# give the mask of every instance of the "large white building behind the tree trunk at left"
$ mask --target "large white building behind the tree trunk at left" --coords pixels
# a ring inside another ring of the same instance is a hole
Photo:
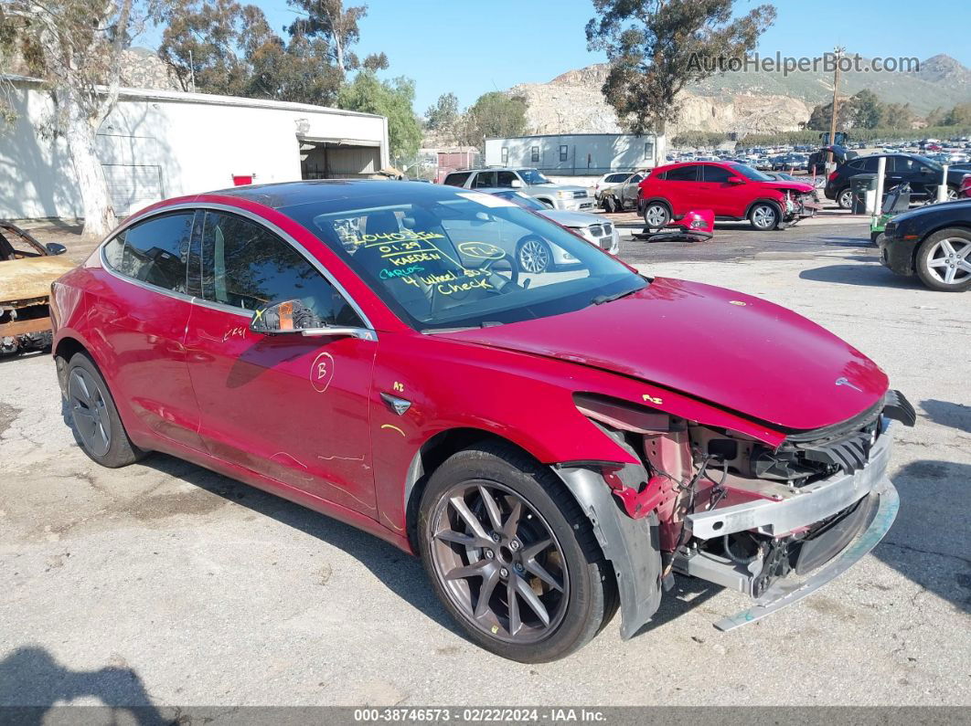
[[[0,122],[0,218],[80,217],[71,157],[50,133],[50,94],[34,80],[13,82],[17,119]],[[345,178],[388,166],[384,116],[138,88],[121,89],[97,148],[122,216],[248,178]]]

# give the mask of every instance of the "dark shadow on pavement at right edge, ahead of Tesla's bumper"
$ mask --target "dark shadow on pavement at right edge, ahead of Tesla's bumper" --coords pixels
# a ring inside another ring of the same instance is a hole
[[[921,459],[891,479],[900,512],[874,555],[922,590],[971,613],[971,529],[963,506],[954,509],[954,502],[967,498],[971,465]]]

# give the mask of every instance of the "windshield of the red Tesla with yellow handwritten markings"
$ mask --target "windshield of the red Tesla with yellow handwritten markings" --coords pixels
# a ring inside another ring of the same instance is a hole
[[[396,185],[393,192],[281,211],[317,235],[419,331],[558,315],[648,284],[608,254],[508,200],[421,187],[416,192]]]

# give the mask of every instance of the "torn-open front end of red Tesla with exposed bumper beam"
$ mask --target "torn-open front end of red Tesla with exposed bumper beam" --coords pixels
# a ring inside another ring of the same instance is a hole
[[[673,573],[755,599],[716,623],[724,630],[787,607],[844,572],[896,516],[886,473],[889,423],[916,420],[906,398],[889,391],[849,421],[770,447],[607,396],[574,399],[640,461],[557,467],[614,565],[625,638],[653,616]]]

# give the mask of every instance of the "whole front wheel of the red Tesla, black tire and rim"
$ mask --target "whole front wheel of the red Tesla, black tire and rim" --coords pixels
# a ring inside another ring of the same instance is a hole
[[[470,640],[523,663],[586,645],[616,608],[589,521],[549,468],[482,443],[435,470],[421,497],[419,550]]]

